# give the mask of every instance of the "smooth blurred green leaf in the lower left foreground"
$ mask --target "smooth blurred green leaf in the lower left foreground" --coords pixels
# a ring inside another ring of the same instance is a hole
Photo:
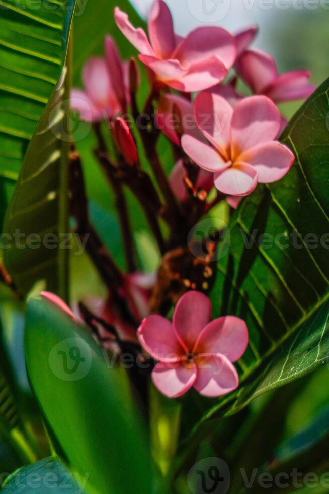
[[[149,446],[127,374],[54,304],[31,300],[28,375],[68,464],[97,492],[148,494]]]

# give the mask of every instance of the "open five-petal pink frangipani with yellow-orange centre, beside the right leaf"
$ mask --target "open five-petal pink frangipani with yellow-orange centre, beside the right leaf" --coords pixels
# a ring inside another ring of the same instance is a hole
[[[215,187],[224,194],[246,196],[258,182],[282,178],[294,162],[290,149],[275,140],[281,115],[266,96],[244,98],[233,109],[221,96],[205,91],[195,99],[194,115],[211,145],[183,135],[183,149],[214,173]]]

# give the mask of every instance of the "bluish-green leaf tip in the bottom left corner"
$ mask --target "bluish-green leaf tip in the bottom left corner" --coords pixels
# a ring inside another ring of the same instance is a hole
[[[60,494],[60,492],[75,492],[87,494],[84,488],[85,478],[77,476],[81,485],[74,478],[72,472],[59,458],[45,458],[44,460],[20,468],[8,477],[1,492],[6,494]]]

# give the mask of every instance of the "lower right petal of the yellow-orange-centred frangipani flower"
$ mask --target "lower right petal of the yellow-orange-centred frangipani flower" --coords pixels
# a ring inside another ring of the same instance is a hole
[[[255,168],[258,182],[272,183],[280,180],[290,170],[295,156],[284,144],[271,141],[248,149],[238,160]]]

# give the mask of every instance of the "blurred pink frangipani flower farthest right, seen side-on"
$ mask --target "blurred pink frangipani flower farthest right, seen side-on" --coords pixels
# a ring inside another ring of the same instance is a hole
[[[308,98],[315,90],[308,84],[308,71],[279,74],[273,58],[261,50],[244,51],[236,69],[254,94],[264,94],[275,103]]]

